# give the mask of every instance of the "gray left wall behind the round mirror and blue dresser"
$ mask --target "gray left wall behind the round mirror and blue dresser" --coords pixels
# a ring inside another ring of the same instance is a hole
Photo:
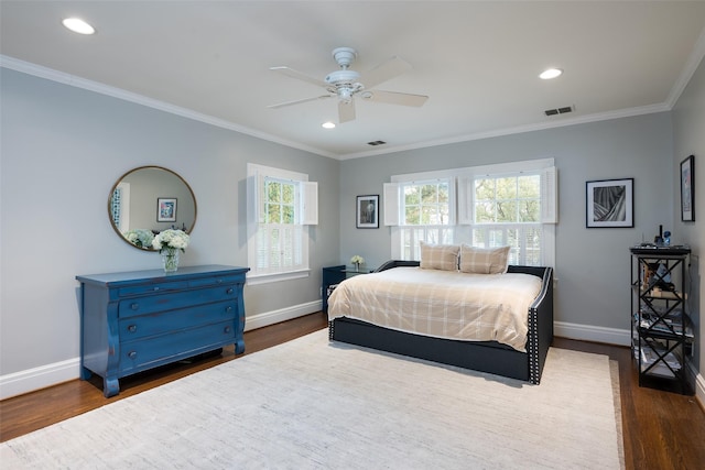
[[[248,316],[319,300],[338,262],[339,162],[104,95],[0,68],[0,376],[79,354],[77,274],[161,267],[112,230],[108,193],[127,171],[159,165],[192,187],[198,218],[184,265],[247,265],[246,165],[318,182],[312,275],[246,286]],[[276,289],[271,295],[268,288]]]

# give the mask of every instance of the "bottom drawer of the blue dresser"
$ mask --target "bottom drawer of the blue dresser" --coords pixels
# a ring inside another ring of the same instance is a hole
[[[235,342],[232,321],[184,329],[149,340],[120,343],[120,376],[151,369]]]

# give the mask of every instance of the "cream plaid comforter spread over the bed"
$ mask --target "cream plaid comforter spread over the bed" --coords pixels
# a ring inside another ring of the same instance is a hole
[[[529,306],[541,291],[530,274],[467,274],[394,267],[341,282],[328,318],[355,318],[400,331],[525,351]]]

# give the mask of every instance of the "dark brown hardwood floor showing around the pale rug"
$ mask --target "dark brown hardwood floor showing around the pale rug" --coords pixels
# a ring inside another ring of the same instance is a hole
[[[322,313],[245,334],[251,354],[325,328]],[[628,348],[556,338],[554,347],[606,354],[619,363],[625,461],[628,470],[705,468],[705,413],[694,396],[639,387]],[[245,356],[243,354],[243,356]],[[120,394],[102,396],[102,381],[74,380],[0,402],[0,441],[31,433],[90,409],[242,356],[181,362],[120,380]],[[595,449],[599,452],[599,449]]]

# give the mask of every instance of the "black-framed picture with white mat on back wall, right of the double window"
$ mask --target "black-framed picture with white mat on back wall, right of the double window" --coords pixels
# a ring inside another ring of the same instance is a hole
[[[634,226],[634,178],[586,182],[587,228]]]

